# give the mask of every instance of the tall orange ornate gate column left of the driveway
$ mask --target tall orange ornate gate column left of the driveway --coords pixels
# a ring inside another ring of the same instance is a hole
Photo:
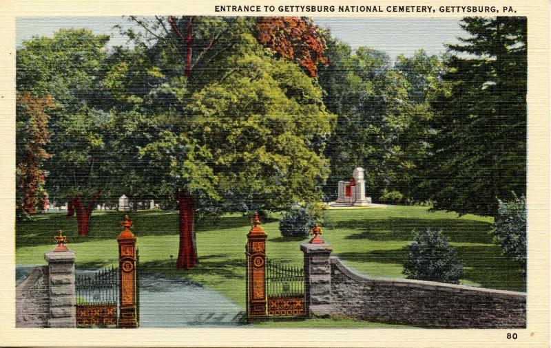
[[[130,232],[132,220],[125,216],[121,221],[124,228],[118,235],[118,274],[120,296],[118,307],[118,327],[136,328],[136,237]]]

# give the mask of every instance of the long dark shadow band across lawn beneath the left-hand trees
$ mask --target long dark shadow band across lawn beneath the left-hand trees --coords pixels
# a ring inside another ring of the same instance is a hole
[[[92,214],[87,237],[77,234],[76,217],[67,218],[65,214],[33,215],[30,221],[17,221],[15,226],[16,248],[38,246],[53,242],[58,230],[63,230],[69,243],[83,243],[98,239],[113,239],[121,232],[121,220],[126,213],[101,212]],[[178,235],[178,213],[176,210],[138,211],[128,213],[134,222],[132,232],[137,237]],[[219,217],[198,221],[196,232],[241,228],[250,226],[249,217]]]

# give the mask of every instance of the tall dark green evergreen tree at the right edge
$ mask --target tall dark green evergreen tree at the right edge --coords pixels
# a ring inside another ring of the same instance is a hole
[[[433,103],[424,189],[435,209],[495,215],[526,194],[526,17],[467,17],[447,61],[451,93]]]

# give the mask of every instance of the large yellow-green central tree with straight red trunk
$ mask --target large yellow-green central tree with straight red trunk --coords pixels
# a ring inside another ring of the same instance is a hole
[[[178,268],[197,262],[198,205],[283,208],[319,199],[331,114],[315,80],[258,43],[260,19],[131,19],[143,31],[127,35],[152,76],[138,98],[159,129],[141,160],[157,168],[145,175],[150,183],[176,191]],[[118,79],[123,87],[134,86],[131,74]]]

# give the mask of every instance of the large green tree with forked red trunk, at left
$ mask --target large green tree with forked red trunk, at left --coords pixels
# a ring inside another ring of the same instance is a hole
[[[24,41],[17,50],[17,90],[33,98],[52,96],[56,103],[49,112],[50,142],[44,147],[52,155],[43,162],[43,186],[56,201],[69,202],[67,217],[76,215],[79,235],[87,235],[101,195],[127,193],[136,177],[132,164],[140,139],[129,130],[147,134],[132,96],[114,93],[116,57],[107,60],[108,39],[90,30],[59,30],[51,38]]]

